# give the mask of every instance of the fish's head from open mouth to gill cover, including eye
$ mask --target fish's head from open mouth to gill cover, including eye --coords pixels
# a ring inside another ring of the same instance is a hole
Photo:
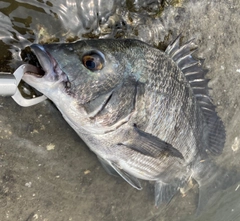
[[[141,44],[110,39],[34,44],[31,50],[44,74],[26,69],[23,80],[52,100],[65,118],[82,122],[77,127],[105,133],[134,111],[144,62]]]

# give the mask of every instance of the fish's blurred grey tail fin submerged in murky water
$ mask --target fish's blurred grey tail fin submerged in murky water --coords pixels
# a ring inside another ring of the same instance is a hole
[[[201,170],[194,177],[199,185],[199,199],[196,211],[196,215],[199,215],[217,192],[240,183],[240,174],[234,169],[219,168],[210,160],[199,162],[195,166],[198,171]]]

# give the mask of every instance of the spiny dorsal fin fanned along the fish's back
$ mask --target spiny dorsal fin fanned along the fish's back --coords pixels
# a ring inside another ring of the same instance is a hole
[[[204,128],[204,137],[207,143],[206,148],[213,154],[221,154],[226,134],[223,122],[217,116],[215,105],[209,96],[209,79],[205,78],[208,70],[203,68],[204,60],[192,57],[192,53],[197,49],[193,40],[180,46],[180,38],[181,35],[167,47],[165,53],[176,62],[184,73],[202,109],[207,124],[207,128]]]

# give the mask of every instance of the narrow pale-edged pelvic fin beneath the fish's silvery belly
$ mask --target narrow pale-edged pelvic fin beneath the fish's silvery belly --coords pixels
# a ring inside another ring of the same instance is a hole
[[[102,158],[98,158],[99,161],[101,162],[103,168],[110,174],[110,175],[120,175],[125,181],[127,181],[132,187],[141,190],[142,186],[140,181],[130,175],[129,173],[125,172],[124,170],[120,169],[115,163],[108,162]]]

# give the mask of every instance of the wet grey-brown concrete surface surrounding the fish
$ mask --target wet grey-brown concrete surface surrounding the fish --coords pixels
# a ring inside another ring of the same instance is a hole
[[[215,160],[238,171],[239,12],[238,0],[189,0],[166,7],[158,20],[160,28],[155,18],[136,26],[146,30],[136,37],[151,44],[158,39],[166,45],[179,33],[184,41],[195,38],[195,54],[205,58],[210,70],[211,94],[227,132],[224,151]],[[194,185],[185,196],[179,194],[168,206],[155,208],[151,185],[144,183],[138,191],[109,176],[50,101],[22,108],[0,97],[0,220],[240,220],[238,184],[217,192],[199,217],[194,215],[197,200]]]

